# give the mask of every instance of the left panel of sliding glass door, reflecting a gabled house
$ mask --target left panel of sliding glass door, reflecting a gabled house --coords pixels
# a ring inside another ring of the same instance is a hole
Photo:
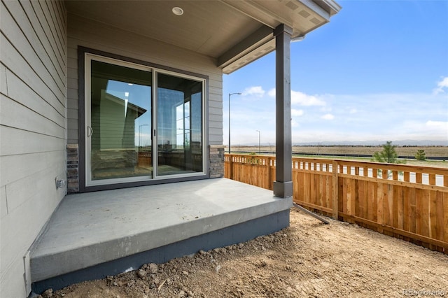
[[[151,178],[152,73],[98,60],[87,56],[87,184]]]

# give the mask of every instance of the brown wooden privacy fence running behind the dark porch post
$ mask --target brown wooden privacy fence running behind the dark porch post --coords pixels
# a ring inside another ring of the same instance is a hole
[[[293,201],[448,255],[448,169],[293,157]],[[225,155],[225,177],[272,190],[275,157]]]

